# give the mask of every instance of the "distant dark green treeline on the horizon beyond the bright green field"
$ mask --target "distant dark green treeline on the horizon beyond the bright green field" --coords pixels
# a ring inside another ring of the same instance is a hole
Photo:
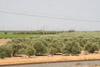
[[[75,30],[69,31],[45,31],[45,30],[37,30],[37,31],[0,31],[2,34],[57,34],[63,32],[75,32]]]

